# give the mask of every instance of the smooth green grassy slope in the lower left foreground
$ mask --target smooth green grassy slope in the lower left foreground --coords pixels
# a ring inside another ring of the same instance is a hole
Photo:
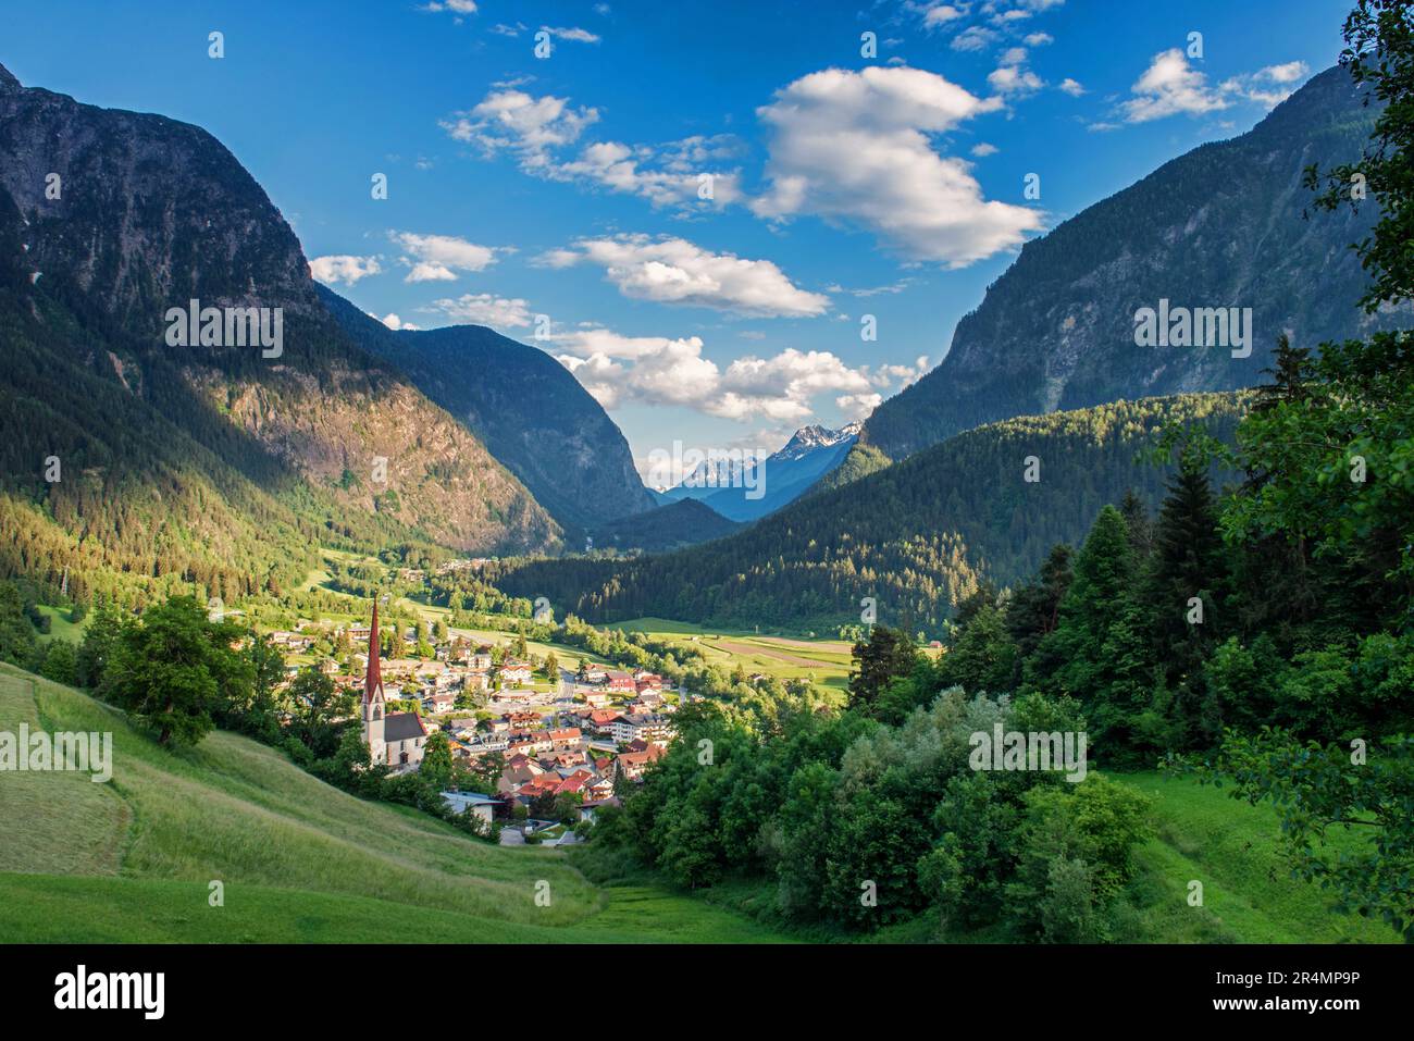
[[[0,774],[3,941],[779,939],[652,885],[597,887],[556,850],[362,802],[243,737],[163,751],[100,703],[0,666],[0,730],[21,721],[112,731],[115,764],[107,785]]]

